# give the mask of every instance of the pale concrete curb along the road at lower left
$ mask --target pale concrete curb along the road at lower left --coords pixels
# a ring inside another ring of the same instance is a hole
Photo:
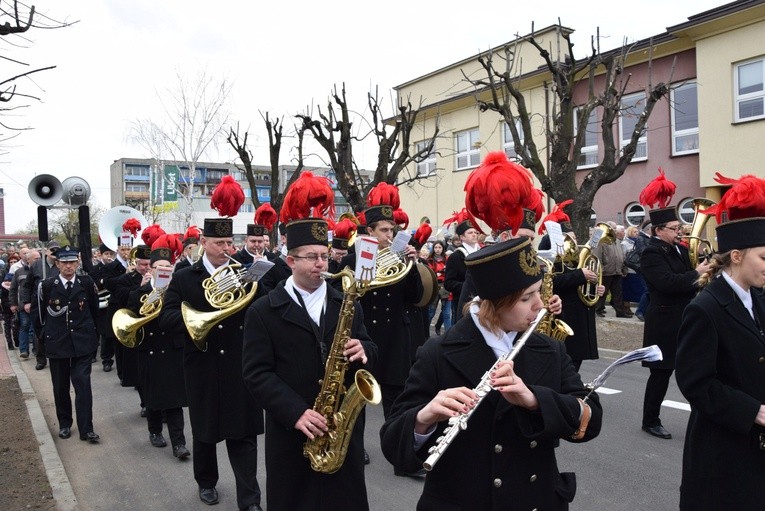
[[[11,354],[9,353],[9,355]],[[40,456],[42,456],[45,475],[48,477],[53,492],[53,500],[56,501],[56,509],[59,511],[76,511],[79,509],[77,498],[74,496],[72,484],[69,481],[69,476],[66,475],[64,464],[61,462],[53,436],[48,429],[48,423],[45,422],[45,416],[40,408],[40,403],[37,401],[34,389],[32,389],[32,384],[29,383],[29,378],[27,378],[18,358],[11,355],[8,359],[14,373],[16,373],[16,379],[27,405],[29,420],[32,422],[32,430],[37,437],[37,443],[40,445]],[[34,361],[34,358],[30,358],[30,360]]]

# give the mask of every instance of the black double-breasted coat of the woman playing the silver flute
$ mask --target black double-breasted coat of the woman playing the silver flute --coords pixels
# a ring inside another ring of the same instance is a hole
[[[414,450],[417,412],[443,389],[475,388],[497,357],[470,316],[445,335],[429,339],[417,354],[404,392],[380,431],[382,450],[394,466],[422,466],[447,422]],[[539,401],[536,411],[510,405],[489,392],[438,464],[425,478],[419,510],[568,509],[574,474],[558,471],[555,448],[579,427],[587,390],[559,342],[533,334],[515,357],[515,372]],[[600,432],[602,409],[593,393],[584,439]]]

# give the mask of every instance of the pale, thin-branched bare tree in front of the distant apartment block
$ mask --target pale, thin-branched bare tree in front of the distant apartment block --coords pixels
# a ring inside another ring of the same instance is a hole
[[[181,202],[178,209],[181,225],[188,226],[194,210],[197,164],[217,147],[226,131],[231,85],[225,79],[215,80],[206,72],[191,79],[180,74],[176,77],[176,88],[160,96],[165,113],[162,122],[135,121],[133,134],[158,162],[173,160],[186,167],[179,173],[176,189]]]

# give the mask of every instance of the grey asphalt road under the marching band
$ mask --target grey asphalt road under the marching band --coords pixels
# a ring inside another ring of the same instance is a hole
[[[583,379],[592,380],[610,363],[606,357],[615,356],[618,355],[604,352],[601,360],[585,362]],[[78,440],[77,431],[68,440],[56,436],[58,424],[55,423],[50,374],[47,369],[35,371],[33,364],[26,361],[21,367],[53,435],[53,443],[74,489],[77,509],[209,509],[197,498],[191,461],[179,462],[172,457],[169,447],[158,449],[149,444],[146,421],[139,416],[138,394],[121,387],[116,372],[104,373],[100,364],[93,366],[94,422],[102,442],[89,445]],[[580,445],[563,442],[559,449],[561,470],[577,472],[579,489],[572,510],[677,509],[688,412],[664,408],[662,417],[674,435],[672,440],[656,439],[640,431],[647,374],[639,364],[618,369],[606,384],[618,393],[601,393],[605,421],[600,437]],[[674,381],[667,398],[684,402]],[[372,458],[367,467],[367,490],[371,509],[414,509],[422,484],[393,475],[379,449],[382,409],[371,407],[367,413],[367,450]],[[191,445],[188,424],[186,435]],[[218,456],[221,502],[215,509],[234,510],[234,478],[223,444],[219,445]],[[262,452],[259,466],[263,466]],[[265,490],[264,471],[260,474]]]

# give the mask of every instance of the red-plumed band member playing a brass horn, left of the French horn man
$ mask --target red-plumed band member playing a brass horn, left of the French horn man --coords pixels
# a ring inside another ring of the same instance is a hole
[[[141,308],[153,295],[158,296],[162,306],[163,291],[158,291],[158,276],[169,278],[173,263],[183,250],[181,242],[173,235],[160,236],[149,254],[148,281],[130,292],[127,308],[140,316]],[[142,279],[142,282],[146,279]],[[166,286],[168,282],[163,282]],[[153,295],[152,295],[153,293]],[[162,436],[162,417],[167,420],[167,431],[173,447],[173,456],[185,459],[190,456],[183,434],[183,408],[187,406],[186,387],[183,380],[183,337],[167,335],[159,328],[157,319],[143,325],[143,341],[138,345],[140,388],[146,405],[146,421],[149,441],[154,447],[165,447]]]

